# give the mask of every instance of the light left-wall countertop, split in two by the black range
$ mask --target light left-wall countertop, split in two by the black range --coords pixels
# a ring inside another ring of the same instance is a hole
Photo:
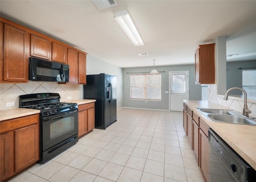
[[[67,100],[65,102],[72,102],[80,104],[88,104],[91,102],[96,102],[96,100],[92,99],[78,99],[78,100]],[[25,109],[25,108],[13,108],[8,110],[0,110],[0,121],[4,121],[7,119],[14,119],[17,117],[24,117],[26,115],[37,114],[40,113],[40,110],[32,110],[32,109]]]

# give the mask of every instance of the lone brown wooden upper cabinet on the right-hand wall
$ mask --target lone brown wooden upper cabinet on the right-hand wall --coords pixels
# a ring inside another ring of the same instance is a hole
[[[215,43],[197,47],[195,51],[195,83],[215,83]]]

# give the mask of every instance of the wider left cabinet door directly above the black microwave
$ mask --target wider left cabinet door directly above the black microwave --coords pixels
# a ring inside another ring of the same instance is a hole
[[[30,56],[50,60],[51,41],[38,35],[30,34]]]

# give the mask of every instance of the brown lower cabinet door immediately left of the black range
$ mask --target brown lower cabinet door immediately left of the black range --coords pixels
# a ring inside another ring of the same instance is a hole
[[[38,124],[14,131],[15,135],[15,172],[39,160]]]

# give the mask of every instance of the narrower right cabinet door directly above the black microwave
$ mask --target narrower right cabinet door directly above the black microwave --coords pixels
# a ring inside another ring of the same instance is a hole
[[[52,42],[52,61],[66,64],[66,54],[66,46]]]

